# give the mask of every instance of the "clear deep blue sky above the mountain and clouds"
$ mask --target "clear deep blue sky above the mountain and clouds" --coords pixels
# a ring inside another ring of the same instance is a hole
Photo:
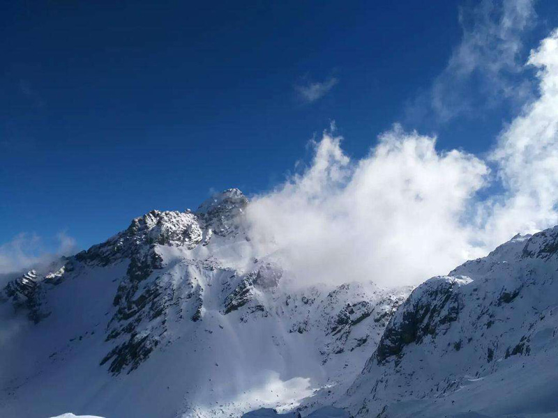
[[[444,70],[458,6],[476,2],[163,3],[1,4],[0,245],[66,231],[89,247],[211,189],[269,189],[331,120],[362,157]],[[331,77],[316,102],[296,94]],[[509,116],[410,127],[482,153]]]

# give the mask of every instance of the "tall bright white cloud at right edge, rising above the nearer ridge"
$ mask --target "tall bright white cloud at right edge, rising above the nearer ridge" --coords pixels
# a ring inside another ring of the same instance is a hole
[[[558,223],[558,31],[531,52],[539,97],[500,134],[490,155],[506,194],[493,199],[487,234],[538,231]]]

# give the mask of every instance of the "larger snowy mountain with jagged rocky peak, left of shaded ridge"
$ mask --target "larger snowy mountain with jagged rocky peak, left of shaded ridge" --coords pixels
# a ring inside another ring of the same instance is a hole
[[[0,295],[0,416],[239,417],[340,396],[411,288],[303,286],[258,254],[248,199],[128,229]]]

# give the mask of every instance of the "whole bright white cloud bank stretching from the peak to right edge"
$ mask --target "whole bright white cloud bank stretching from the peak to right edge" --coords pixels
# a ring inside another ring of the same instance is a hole
[[[440,152],[436,138],[398,125],[353,161],[334,130],[309,167],[255,196],[255,245],[296,280],[416,284],[486,254],[515,233],[558,222],[558,31],[532,51],[539,95],[481,159]],[[481,199],[488,186],[499,190]]]

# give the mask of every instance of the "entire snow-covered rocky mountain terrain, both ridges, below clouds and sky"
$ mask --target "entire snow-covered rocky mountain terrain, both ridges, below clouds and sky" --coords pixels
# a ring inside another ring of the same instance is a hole
[[[558,227],[414,290],[302,286],[248,204],[152,211],[13,277],[0,416],[558,416]]]

